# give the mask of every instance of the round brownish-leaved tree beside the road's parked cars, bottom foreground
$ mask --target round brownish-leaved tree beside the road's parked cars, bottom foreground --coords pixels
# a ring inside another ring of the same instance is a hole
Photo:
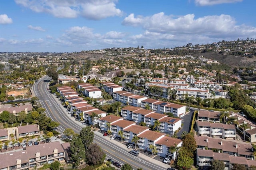
[[[98,165],[104,162],[106,154],[102,151],[100,146],[93,143],[86,150],[86,162],[89,165]]]

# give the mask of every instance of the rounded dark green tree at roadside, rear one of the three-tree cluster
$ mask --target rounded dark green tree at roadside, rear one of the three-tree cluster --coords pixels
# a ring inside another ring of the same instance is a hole
[[[94,132],[91,130],[89,126],[86,126],[82,128],[82,130],[80,131],[79,137],[81,138],[84,144],[84,148],[87,149],[93,142]]]

